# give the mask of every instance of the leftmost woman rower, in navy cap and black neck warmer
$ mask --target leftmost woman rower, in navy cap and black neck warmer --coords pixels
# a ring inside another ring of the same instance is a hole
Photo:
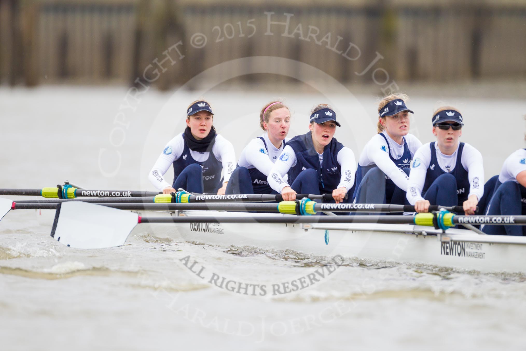
[[[191,193],[225,194],[236,156],[232,144],[216,134],[213,119],[208,102],[197,100],[188,106],[184,133],[166,144],[148,175],[151,184],[163,194],[173,193],[177,188]],[[170,165],[174,167],[171,184],[163,177]]]

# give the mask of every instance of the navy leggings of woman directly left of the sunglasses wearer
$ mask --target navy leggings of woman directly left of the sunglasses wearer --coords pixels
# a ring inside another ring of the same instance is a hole
[[[409,174],[409,168],[402,169]],[[392,180],[391,180],[392,182]],[[406,192],[395,184],[387,186],[385,173],[380,168],[372,167],[363,176],[356,192],[355,203],[357,204],[398,204],[409,205]]]

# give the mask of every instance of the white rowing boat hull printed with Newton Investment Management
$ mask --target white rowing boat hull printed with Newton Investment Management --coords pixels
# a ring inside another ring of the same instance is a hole
[[[211,213],[213,212],[213,213]],[[148,215],[153,212],[138,212]],[[159,212],[156,216],[231,216],[220,211]],[[320,256],[358,257],[397,263],[452,267],[480,272],[526,273],[526,237],[480,235],[468,229],[440,229],[408,224],[146,223],[131,235],[150,234],[176,242],[295,250]],[[290,215],[276,214],[287,217]]]

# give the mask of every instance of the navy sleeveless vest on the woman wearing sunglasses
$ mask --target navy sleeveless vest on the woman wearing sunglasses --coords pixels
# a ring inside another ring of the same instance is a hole
[[[435,179],[437,179],[440,175],[446,174],[447,172],[442,171],[442,168],[438,165],[437,162],[437,152],[434,148],[434,143],[432,142],[429,144],[429,147],[431,148],[431,162],[429,164],[429,167],[427,169],[426,174],[426,182],[424,183],[424,187],[422,189],[422,194],[425,194],[427,192],[427,189],[431,186],[431,184],[434,182]],[[464,149],[464,143],[460,143],[459,145],[459,151],[457,153],[457,164],[455,165],[455,168],[452,169],[450,174],[452,174],[457,179],[457,195],[459,199],[459,206],[462,206],[463,202],[468,199],[469,194],[469,177],[468,177],[468,171],[462,167],[462,163],[460,160],[462,159],[462,150]]]

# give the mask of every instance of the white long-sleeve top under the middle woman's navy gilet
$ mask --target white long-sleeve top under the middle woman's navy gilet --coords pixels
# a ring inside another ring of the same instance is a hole
[[[282,161],[282,157],[279,156],[276,162],[274,163],[274,167],[272,167],[272,169],[270,170],[270,173],[267,178],[270,187],[272,187],[272,189],[276,190],[279,193],[281,193],[281,190],[284,187],[290,186],[287,183],[285,175],[287,174],[287,172],[289,172],[290,167],[296,166],[297,163],[296,153],[294,152],[294,149],[292,149],[292,147],[290,147],[289,145],[285,146],[282,154],[285,153],[287,153],[289,156],[287,161]],[[323,154],[318,154],[318,159],[320,161],[320,167],[322,167]],[[338,155],[336,155],[336,161],[338,161],[341,167],[341,177],[340,183],[338,184],[338,188],[345,186],[347,191],[349,191],[349,189],[352,188],[352,185],[355,184],[355,154],[350,148],[343,146],[338,152]]]

